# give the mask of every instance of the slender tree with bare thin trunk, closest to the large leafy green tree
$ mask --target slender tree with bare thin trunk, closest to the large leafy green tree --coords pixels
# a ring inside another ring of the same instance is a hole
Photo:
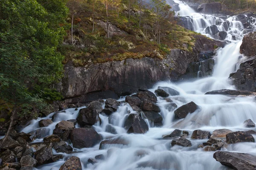
[[[74,25],[74,14],[81,12],[83,9],[83,0],[68,0],[67,7],[70,9],[71,14],[71,44],[74,45],[73,40],[73,25]]]

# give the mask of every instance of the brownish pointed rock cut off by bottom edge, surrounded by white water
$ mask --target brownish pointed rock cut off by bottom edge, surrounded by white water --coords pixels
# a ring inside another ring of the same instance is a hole
[[[76,156],[70,157],[59,170],[82,170],[80,159]]]

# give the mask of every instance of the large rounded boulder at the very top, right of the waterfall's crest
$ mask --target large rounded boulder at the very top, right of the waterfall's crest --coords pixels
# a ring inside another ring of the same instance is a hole
[[[203,14],[215,14],[222,10],[220,2],[202,3],[198,6],[198,12]]]

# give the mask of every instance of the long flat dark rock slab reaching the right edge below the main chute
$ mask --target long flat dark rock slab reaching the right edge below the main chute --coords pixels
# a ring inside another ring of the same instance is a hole
[[[238,95],[256,95],[256,93],[250,91],[236,91],[236,90],[216,90],[216,91],[209,91],[206,94],[221,94],[221,95],[230,95],[230,96],[238,96]]]

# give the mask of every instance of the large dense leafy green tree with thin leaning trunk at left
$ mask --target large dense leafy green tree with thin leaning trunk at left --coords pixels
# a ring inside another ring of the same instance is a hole
[[[57,46],[63,42],[65,31],[59,24],[68,10],[63,0],[40,3],[40,0],[0,0],[0,100],[11,111],[0,148],[17,114],[27,114],[35,106],[39,109],[47,106],[42,97],[44,91],[35,91],[35,87],[49,86],[62,76],[64,57]]]

